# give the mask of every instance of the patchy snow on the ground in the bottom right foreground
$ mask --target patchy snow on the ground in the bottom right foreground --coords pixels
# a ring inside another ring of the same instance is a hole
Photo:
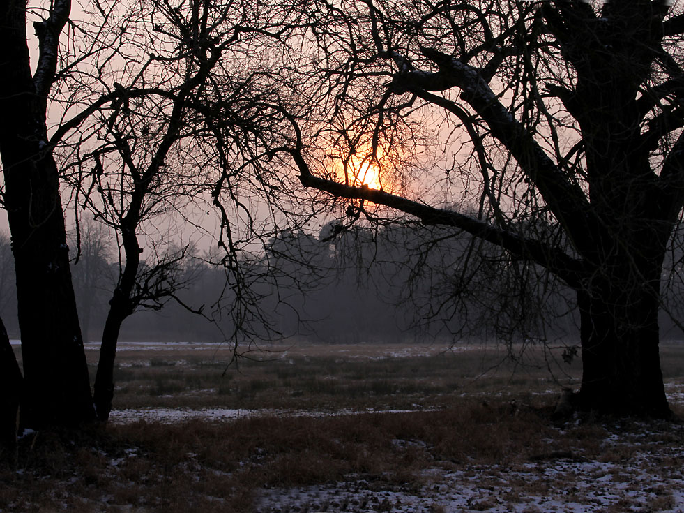
[[[625,442],[633,443],[633,441]],[[619,451],[618,436],[605,450]],[[684,512],[681,468],[662,462],[684,456],[684,447],[636,452],[619,463],[554,457],[507,466],[467,466],[466,470],[433,468],[420,482],[400,486],[364,479],[321,486],[265,489],[257,513],[389,512]],[[448,466],[448,465],[447,465]]]

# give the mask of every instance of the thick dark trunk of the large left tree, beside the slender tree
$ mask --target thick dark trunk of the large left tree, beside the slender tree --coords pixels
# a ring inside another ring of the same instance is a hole
[[[0,155],[17,275],[24,364],[22,423],[93,419],[88,367],[71,283],[56,163],[47,149],[45,98],[26,47],[26,3],[0,3]]]

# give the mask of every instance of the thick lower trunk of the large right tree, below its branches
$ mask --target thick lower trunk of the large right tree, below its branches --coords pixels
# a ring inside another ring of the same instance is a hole
[[[629,293],[616,293],[610,284],[578,293],[582,410],[671,415],[660,370],[657,294],[644,283]]]

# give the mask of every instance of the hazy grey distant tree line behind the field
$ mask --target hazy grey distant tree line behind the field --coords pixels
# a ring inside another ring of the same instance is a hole
[[[70,237],[77,308],[85,341],[98,342],[119,261],[104,225],[83,222],[80,230],[78,243]],[[465,266],[473,252],[478,266]],[[3,234],[0,316],[7,319],[10,338],[18,339],[12,264],[9,237]],[[283,230],[251,265],[261,276],[254,289],[263,298],[262,308],[273,312],[268,329],[250,327],[264,341],[458,342],[460,336],[466,342],[495,339],[501,332],[512,334],[512,341],[547,340],[576,329],[567,290],[529,290],[524,271],[512,269],[494,246],[482,247],[470,235],[439,228],[333,221],[318,235]],[[511,279],[516,273],[518,281]],[[176,292],[178,301],[137,311],[123,325],[122,340],[227,341],[234,320],[223,317],[221,305],[234,297],[225,290],[224,269],[194,250],[178,269],[178,280],[185,283]]]

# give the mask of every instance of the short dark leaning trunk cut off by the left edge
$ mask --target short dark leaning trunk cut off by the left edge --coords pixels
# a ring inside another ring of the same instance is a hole
[[[0,462],[17,463],[17,415],[23,378],[14,350],[0,320]]]

